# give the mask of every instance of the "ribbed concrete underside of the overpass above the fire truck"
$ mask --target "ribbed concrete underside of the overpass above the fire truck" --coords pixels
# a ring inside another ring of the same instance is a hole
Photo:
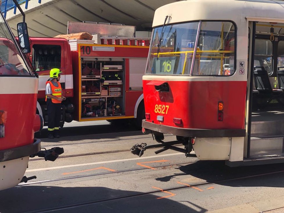
[[[149,30],[154,12],[160,6],[179,0],[46,0],[26,10],[30,36],[54,37],[67,33],[68,21],[92,21],[136,26],[136,30]],[[30,3],[29,3],[30,6]],[[25,10],[24,10],[25,11]],[[12,31],[17,35],[20,15],[7,14]]]

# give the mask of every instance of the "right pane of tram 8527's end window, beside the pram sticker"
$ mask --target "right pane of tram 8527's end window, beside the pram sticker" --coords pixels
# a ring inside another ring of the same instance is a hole
[[[233,75],[235,35],[231,22],[202,22],[193,75]]]

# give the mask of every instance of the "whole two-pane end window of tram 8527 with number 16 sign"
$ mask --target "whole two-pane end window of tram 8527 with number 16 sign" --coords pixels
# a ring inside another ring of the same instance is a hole
[[[232,22],[202,21],[200,30],[199,22],[154,28],[146,74],[233,75],[235,39]]]

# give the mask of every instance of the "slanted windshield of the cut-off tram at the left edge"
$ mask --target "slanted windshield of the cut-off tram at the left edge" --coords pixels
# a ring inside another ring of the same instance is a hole
[[[0,15],[0,77],[1,76],[30,76],[31,73],[15,45],[15,37],[8,29],[3,15]]]

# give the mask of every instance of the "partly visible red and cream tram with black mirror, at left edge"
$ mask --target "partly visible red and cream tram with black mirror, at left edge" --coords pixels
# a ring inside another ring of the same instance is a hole
[[[34,138],[43,127],[42,116],[35,113],[38,78],[25,60],[30,52],[25,14],[13,1],[23,15],[17,25],[20,45],[0,12],[0,190],[36,178],[24,176],[30,157],[54,161],[64,152],[60,147],[41,151]]]

